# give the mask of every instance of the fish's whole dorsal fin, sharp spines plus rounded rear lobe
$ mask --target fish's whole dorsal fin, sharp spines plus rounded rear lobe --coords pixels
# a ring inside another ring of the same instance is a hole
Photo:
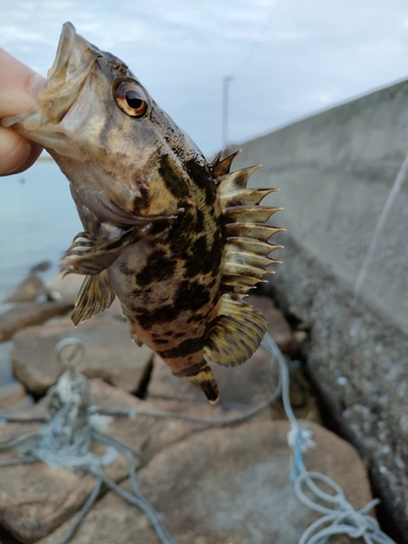
[[[206,343],[206,355],[224,367],[245,362],[258,349],[267,330],[267,320],[258,310],[245,305],[246,292],[273,271],[267,267],[276,261],[270,254],[277,248],[269,239],[284,231],[267,222],[282,208],[259,206],[265,196],[277,189],[247,188],[249,177],[260,166],[230,172],[237,152],[220,161],[215,157],[211,168],[224,220],[225,243],[223,292],[215,318]]]

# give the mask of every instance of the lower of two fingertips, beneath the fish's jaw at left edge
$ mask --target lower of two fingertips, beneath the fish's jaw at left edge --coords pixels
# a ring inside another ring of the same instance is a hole
[[[41,146],[11,128],[0,127],[0,176],[24,172],[34,164],[41,150]]]

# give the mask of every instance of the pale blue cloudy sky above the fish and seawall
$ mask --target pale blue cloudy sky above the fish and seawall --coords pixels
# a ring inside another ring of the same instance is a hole
[[[0,0],[0,47],[42,75],[65,21],[121,58],[208,156],[408,73],[407,0]]]

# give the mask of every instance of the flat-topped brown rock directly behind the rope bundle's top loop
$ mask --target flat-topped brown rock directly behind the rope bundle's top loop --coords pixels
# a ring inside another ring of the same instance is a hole
[[[53,349],[66,337],[79,338],[86,348],[78,370],[88,378],[101,378],[127,392],[136,392],[151,358],[147,346],[138,347],[127,325],[114,313],[104,312],[73,327],[69,318],[47,326],[18,333],[13,350],[13,371],[26,388],[44,395],[62,372]]]

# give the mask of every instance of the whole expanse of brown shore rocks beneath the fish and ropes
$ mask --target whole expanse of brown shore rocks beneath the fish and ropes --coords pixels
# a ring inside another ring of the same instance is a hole
[[[260,349],[239,368],[213,366],[221,398],[210,406],[201,392],[175,379],[151,350],[131,342],[116,301],[102,316],[73,329],[67,313],[81,281],[57,277],[30,301],[18,295],[20,301],[1,316],[0,338],[7,339],[0,343],[1,413],[46,415],[45,395],[64,370],[53,348],[66,337],[84,344],[78,370],[89,380],[91,403],[106,408],[175,412],[205,420],[233,418],[268,399],[276,386],[277,369],[271,369],[270,357]],[[47,300],[45,293],[58,300]],[[270,297],[251,296],[248,301],[265,313],[270,334],[294,361],[290,401],[296,417],[310,425],[317,444],[305,462],[335,480],[354,507],[362,508],[372,498],[364,463],[349,444],[321,425],[317,399],[298,360],[308,343],[305,324],[299,321],[290,326]],[[30,320],[22,310],[26,305],[33,305]],[[0,425],[0,444],[39,429],[39,423],[5,422]],[[233,426],[206,429],[177,419],[137,416],[116,417],[106,430],[147,456],[145,467],[134,459],[140,490],[178,544],[298,541],[320,514],[298,500],[288,481],[288,431],[280,400]],[[102,445],[94,448],[103,455]],[[0,461],[11,456],[16,459],[17,449],[1,452]],[[123,458],[113,460],[107,472],[126,489]],[[5,544],[58,544],[95,484],[89,474],[41,462],[0,467],[0,474],[1,542]],[[135,535],[146,544],[159,542],[145,515],[103,490],[71,542],[128,544]],[[333,542],[351,541],[336,536]]]

